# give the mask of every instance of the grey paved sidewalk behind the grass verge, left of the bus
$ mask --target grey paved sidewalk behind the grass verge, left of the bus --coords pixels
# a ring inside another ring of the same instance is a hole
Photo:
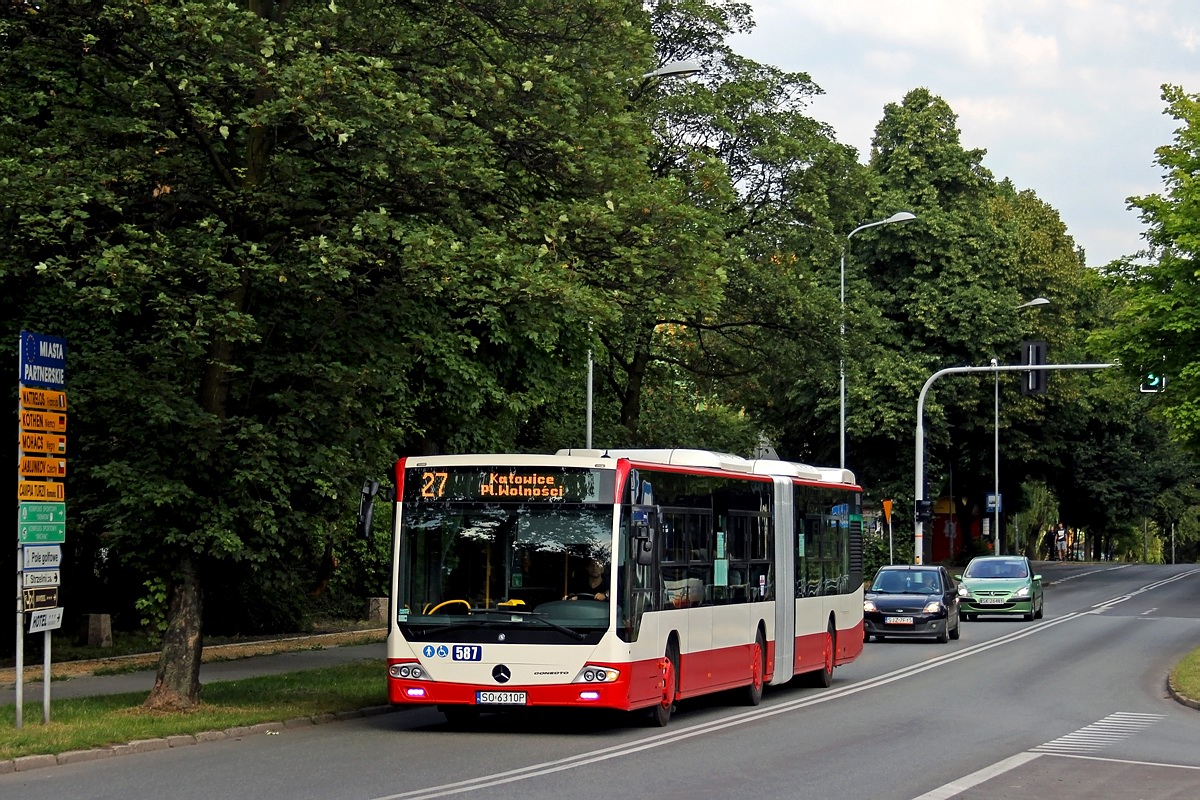
[[[214,661],[200,667],[200,684],[212,684],[222,680],[240,680],[256,675],[277,675],[301,669],[334,667],[373,658],[379,662],[379,676],[383,680],[386,664],[386,645],[356,644],[328,646],[319,650],[295,650],[266,656],[250,656],[236,661]],[[74,697],[95,697],[98,694],[124,694],[126,692],[150,693],[154,688],[155,669],[139,669],[121,675],[80,675],[66,680],[50,681],[50,702]],[[36,681],[36,682],[35,682]],[[42,663],[25,664],[22,694],[25,704],[42,699]],[[12,705],[17,702],[16,686],[6,682],[0,686],[0,705]]]

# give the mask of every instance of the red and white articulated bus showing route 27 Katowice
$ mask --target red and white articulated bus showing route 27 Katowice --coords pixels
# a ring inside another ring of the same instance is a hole
[[[863,650],[862,491],[848,470],[700,450],[403,458],[388,699],[451,721],[648,709]],[[370,528],[364,489],[360,524]]]

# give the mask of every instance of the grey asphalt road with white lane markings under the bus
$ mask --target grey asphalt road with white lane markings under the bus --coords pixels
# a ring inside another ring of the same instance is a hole
[[[1168,697],[1200,644],[1200,566],[1042,565],[1045,619],[949,644],[872,642],[828,690],[622,715],[408,710],[0,776],[12,800],[1200,798],[1200,711]]]

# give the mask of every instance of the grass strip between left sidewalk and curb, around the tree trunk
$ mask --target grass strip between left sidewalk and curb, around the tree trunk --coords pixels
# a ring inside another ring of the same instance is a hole
[[[58,754],[106,745],[156,739],[235,726],[282,722],[386,703],[379,660],[282,675],[208,684],[199,709],[161,714],[142,709],[145,692],[54,700],[50,722],[42,723],[42,703],[24,704],[24,726],[16,706],[0,706],[0,760]]]

